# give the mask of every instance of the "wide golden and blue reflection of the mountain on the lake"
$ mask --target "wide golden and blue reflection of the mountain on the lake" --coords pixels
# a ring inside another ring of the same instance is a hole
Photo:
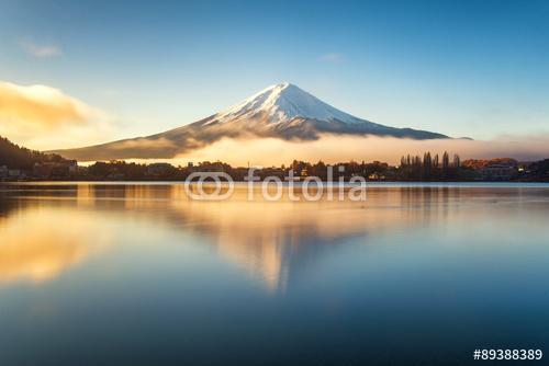
[[[261,278],[270,289],[352,238],[365,242],[388,230],[406,230],[447,215],[457,188],[376,188],[367,202],[253,202],[235,191],[228,201],[189,201],[182,185],[79,186],[79,202],[123,210],[209,238],[220,253]],[[287,195],[284,195],[287,197]],[[406,209],[402,209],[405,207]]]

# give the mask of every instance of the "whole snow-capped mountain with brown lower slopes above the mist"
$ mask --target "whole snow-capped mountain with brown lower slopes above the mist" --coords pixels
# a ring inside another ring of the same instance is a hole
[[[321,134],[373,135],[410,139],[449,138],[412,128],[395,128],[339,111],[299,87],[271,85],[204,119],[161,134],[77,149],[55,150],[80,161],[169,159],[223,137],[317,139]]]

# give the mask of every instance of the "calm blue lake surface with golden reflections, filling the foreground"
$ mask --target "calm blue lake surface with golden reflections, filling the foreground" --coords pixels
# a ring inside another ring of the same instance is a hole
[[[548,324],[549,185],[0,185],[2,366],[461,365]]]

